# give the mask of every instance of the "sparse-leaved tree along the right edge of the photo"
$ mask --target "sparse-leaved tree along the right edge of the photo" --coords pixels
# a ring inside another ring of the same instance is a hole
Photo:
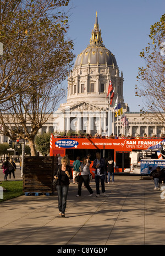
[[[164,126],[165,117],[162,112],[165,112],[165,14],[160,22],[151,26],[149,37],[151,43],[140,53],[146,67],[139,67],[139,85],[135,87],[135,95],[144,97],[141,113],[149,117],[148,113],[152,112],[153,123]]]

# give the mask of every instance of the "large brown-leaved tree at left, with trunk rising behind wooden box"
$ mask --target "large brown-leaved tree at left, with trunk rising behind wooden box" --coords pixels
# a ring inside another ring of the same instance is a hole
[[[8,83],[0,96],[1,132],[11,139],[29,140],[31,155],[36,155],[35,135],[64,96],[61,82],[74,58],[73,42],[66,38],[68,19],[58,9],[68,2],[1,1],[3,13],[8,14],[1,18],[2,92]],[[10,12],[8,5],[13,8]]]

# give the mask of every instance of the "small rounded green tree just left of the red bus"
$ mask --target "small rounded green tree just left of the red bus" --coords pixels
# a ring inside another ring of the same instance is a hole
[[[47,155],[50,153],[50,138],[51,133],[43,133],[42,135],[37,135],[35,142],[37,145],[37,150],[40,151],[42,155]]]

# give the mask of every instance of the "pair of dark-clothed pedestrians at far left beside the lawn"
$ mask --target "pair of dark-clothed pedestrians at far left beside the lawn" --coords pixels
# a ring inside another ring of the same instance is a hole
[[[7,157],[6,160],[2,161],[2,167],[3,173],[4,173],[4,181],[8,181],[7,177],[9,175],[9,179],[11,179],[11,175],[13,174],[13,178],[15,179],[15,170],[16,165],[13,161],[13,159],[10,159]]]

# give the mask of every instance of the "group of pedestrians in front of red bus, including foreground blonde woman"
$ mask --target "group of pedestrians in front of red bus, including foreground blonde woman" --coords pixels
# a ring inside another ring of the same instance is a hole
[[[59,157],[59,156],[58,156]],[[57,192],[58,192],[58,209],[59,216],[65,217],[65,208],[67,206],[67,195],[69,189],[69,179],[73,179],[73,184],[75,181],[78,182],[78,195],[81,196],[81,187],[84,183],[84,186],[89,191],[90,196],[94,194],[94,191],[90,186],[90,154],[85,156],[82,161],[78,156],[73,163],[73,176],[72,168],[69,165],[69,159],[67,156],[64,156],[54,171],[54,179],[57,179]],[[101,158],[100,153],[96,153],[96,159],[92,165],[92,168],[95,169],[95,184],[96,184],[96,197],[100,196],[100,183],[101,191],[103,196],[106,196],[105,190],[105,168],[107,167],[108,171],[108,183],[110,181],[110,176],[112,175],[112,182],[114,183],[114,161],[111,156],[107,160]],[[106,173],[107,173],[106,171]],[[106,174],[107,175],[107,174]],[[79,178],[79,179],[78,179]]]

